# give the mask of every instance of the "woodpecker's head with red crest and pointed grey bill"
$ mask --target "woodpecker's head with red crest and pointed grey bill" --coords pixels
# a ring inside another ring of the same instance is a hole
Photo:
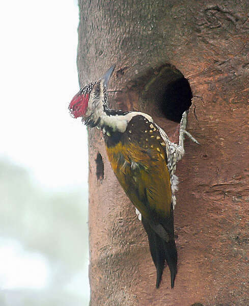
[[[90,83],[76,93],[68,108],[74,118],[82,117],[86,124],[88,121],[96,123],[106,105],[107,86],[114,68],[110,67],[99,81]]]

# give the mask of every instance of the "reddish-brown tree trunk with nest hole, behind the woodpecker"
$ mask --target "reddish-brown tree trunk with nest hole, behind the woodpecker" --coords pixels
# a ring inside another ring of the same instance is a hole
[[[201,143],[186,139],[177,164],[175,288],[165,267],[156,289],[143,226],[89,130],[91,306],[249,304],[249,2],[218,3],[79,1],[80,84],[116,64],[110,107],[149,113],[175,141],[192,94]]]

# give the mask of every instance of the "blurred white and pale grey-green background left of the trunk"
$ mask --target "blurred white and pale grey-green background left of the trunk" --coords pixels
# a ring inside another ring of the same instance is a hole
[[[0,305],[88,305],[77,1],[2,1],[0,25]]]

